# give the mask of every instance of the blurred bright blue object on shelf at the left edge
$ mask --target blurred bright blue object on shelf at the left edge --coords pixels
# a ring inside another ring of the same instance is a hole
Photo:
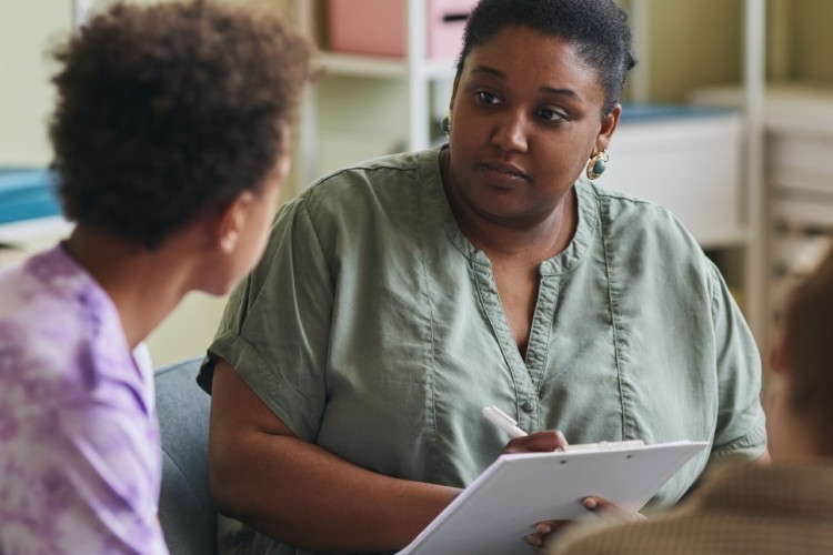
[[[0,223],[60,214],[57,184],[46,168],[0,168]]]

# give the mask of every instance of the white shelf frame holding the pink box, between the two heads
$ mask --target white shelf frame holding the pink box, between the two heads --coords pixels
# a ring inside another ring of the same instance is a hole
[[[404,148],[420,150],[431,143],[431,125],[436,122],[431,114],[432,87],[450,83],[454,78],[454,60],[429,59],[426,56],[425,0],[407,0],[408,17],[404,32],[408,37],[404,58],[347,54],[322,50],[318,63],[328,77],[349,77],[368,80],[393,80],[405,83],[408,125]],[[315,37],[315,2],[295,0],[299,22],[310,37]],[[301,108],[301,181],[309,184],[322,173],[320,168],[320,107],[317,91],[310,90]],[[377,154],[382,154],[378,152]]]

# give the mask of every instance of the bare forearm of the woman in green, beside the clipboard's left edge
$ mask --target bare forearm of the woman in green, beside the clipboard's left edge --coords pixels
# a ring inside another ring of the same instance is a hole
[[[369,472],[292,436],[229,437],[212,445],[220,511],[299,547],[399,549],[459,493]]]

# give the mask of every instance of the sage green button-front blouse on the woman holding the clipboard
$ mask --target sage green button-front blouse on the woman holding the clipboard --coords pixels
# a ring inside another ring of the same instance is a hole
[[[764,452],[759,352],[672,214],[580,179],[575,236],[540,266],[524,359],[489,260],[451,213],[438,153],[335,172],[285,204],[229,302],[202,383],[225,359],[300,438],[452,486],[509,441],[485,405],[570,443],[711,442],[660,491],[662,504],[711,461]]]

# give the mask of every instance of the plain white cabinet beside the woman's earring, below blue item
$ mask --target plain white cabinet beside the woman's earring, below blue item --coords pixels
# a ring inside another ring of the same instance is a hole
[[[746,245],[741,117],[676,112],[623,118],[598,183],[668,208],[704,249]]]

